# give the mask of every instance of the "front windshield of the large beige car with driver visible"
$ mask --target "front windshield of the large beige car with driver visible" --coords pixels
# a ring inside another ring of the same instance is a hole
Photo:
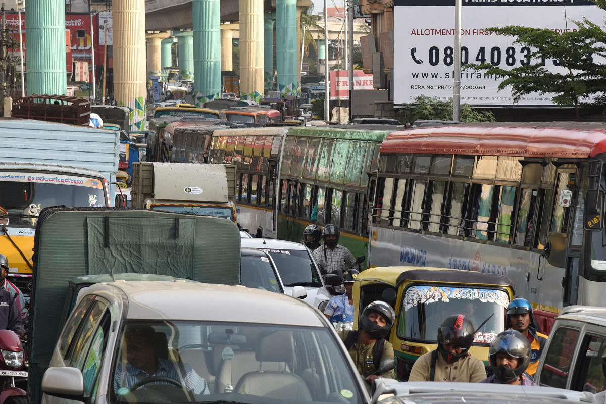
[[[327,328],[129,320],[119,341],[111,403],[362,403]]]

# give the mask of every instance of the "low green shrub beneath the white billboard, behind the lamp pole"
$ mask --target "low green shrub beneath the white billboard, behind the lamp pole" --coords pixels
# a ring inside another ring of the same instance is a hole
[[[415,122],[417,119],[439,119],[450,121],[453,118],[453,100],[440,101],[424,95],[418,96],[412,104],[404,104],[398,111],[402,122]],[[461,105],[461,122],[493,122],[490,111],[477,111],[470,104]]]

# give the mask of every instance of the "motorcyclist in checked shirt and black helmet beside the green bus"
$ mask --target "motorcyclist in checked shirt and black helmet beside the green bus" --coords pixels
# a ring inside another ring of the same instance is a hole
[[[324,245],[313,251],[313,257],[322,274],[333,273],[337,270],[344,272],[345,269],[358,264],[351,251],[339,244],[340,234],[339,227],[331,223],[322,229]]]

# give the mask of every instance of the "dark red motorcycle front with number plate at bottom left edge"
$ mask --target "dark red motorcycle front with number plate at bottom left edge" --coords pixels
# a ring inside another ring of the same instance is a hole
[[[27,404],[27,367],[19,336],[0,329],[0,404]]]

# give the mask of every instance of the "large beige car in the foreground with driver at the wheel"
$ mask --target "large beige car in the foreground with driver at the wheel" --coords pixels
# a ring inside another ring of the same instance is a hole
[[[42,392],[45,404],[370,402],[315,308],[184,280],[90,286],[59,335]]]

